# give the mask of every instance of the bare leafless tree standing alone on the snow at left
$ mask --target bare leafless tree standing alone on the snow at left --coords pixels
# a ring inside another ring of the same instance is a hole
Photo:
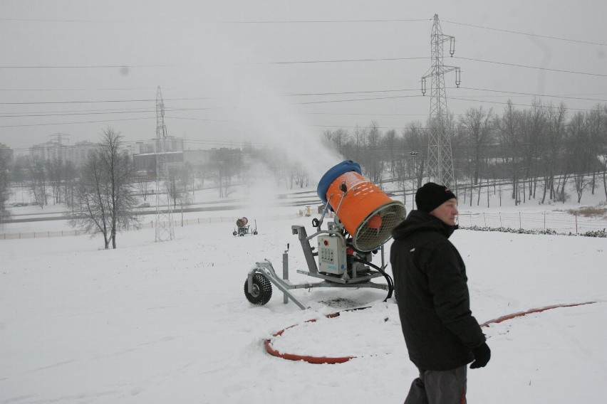
[[[116,248],[118,231],[137,225],[139,218],[133,192],[134,166],[121,149],[122,137],[108,128],[91,152],[76,187],[76,202],[70,225],[91,235],[103,235],[104,248]]]

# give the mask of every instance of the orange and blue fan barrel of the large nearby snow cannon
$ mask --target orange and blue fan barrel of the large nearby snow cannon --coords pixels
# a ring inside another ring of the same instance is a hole
[[[342,161],[329,169],[318,181],[316,193],[335,212],[336,222],[350,233],[358,251],[376,250],[405,218],[403,203],[366,179],[356,161]]]

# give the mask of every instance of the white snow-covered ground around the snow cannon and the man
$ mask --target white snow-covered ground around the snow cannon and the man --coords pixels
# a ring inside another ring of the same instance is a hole
[[[117,250],[88,236],[0,240],[0,403],[402,403],[416,369],[385,292],[294,290],[306,310],[276,288],[265,306],[244,297],[247,272],[264,258],[281,267],[287,243],[291,281],[316,282],[296,273],[306,268],[291,225],[312,229],[295,217],[301,208],[197,213],[256,219],[259,234],[244,237],[227,222],[177,227],[165,243],[151,228],[120,233]],[[51,223],[61,221],[10,231]],[[479,322],[595,302],[486,328],[492,359],[469,371],[469,403],[605,402],[607,239],[471,230],[451,239]],[[314,365],[266,353],[264,340],[294,324],[275,349],[356,358]]]

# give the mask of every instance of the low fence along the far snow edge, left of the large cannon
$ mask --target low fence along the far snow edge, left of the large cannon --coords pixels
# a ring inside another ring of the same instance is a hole
[[[267,220],[286,220],[301,218],[304,213],[293,213],[288,215],[274,215],[269,216]],[[237,217],[233,216],[218,216],[215,218],[190,218],[183,220],[172,220],[173,226],[180,227],[186,225],[202,225],[205,223],[236,223]],[[162,225],[167,227],[168,222],[162,222]],[[125,230],[141,230],[144,228],[154,228],[155,222],[153,220],[149,222],[142,222],[138,225],[129,226]],[[50,237],[65,237],[71,235],[84,235],[87,234],[81,230],[57,230],[57,231],[35,231],[35,232],[21,232],[21,233],[0,233],[0,240],[18,240],[21,238],[50,238]]]

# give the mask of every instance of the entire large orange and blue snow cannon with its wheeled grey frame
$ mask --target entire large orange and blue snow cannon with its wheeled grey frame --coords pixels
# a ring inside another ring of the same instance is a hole
[[[378,186],[362,176],[356,161],[343,161],[333,166],[318,182],[316,189],[324,203],[321,218],[313,218],[316,233],[307,234],[301,225],[291,225],[297,235],[308,271],[297,272],[322,279],[321,282],[292,284],[289,282],[289,244],[282,255],[282,278],[276,275],[269,260],[256,262],[244,282],[244,295],[252,304],[263,305],[272,297],[272,284],[283,292],[283,302],[291,299],[301,309],[307,307],[290,292],[291,289],[313,287],[372,287],[388,291],[392,296],[393,281],[385,273],[383,245],[390,240],[392,230],[405,218],[403,203],[393,201]],[[327,211],[335,213],[335,221],[322,230]],[[311,240],[316,238],[316,245]],[[381,251],[381,266],[371,263],[373,254]],[[318,261],[318,263],[317,263]],[[386,282],[375,283],[375,277]]]

